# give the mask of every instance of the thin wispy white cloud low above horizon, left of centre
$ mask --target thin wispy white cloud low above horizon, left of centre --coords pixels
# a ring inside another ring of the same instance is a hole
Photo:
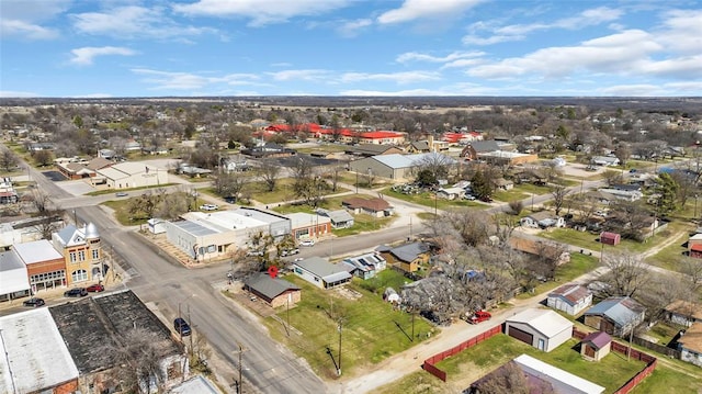
[[[144,76],[143,82],[154,85],[156,90],[203,90],[207,86],[265,86],[256,82],[252,74],[228,74],[222,77],[205,77],[192,72],[159,71],[147,68],[133,68],[134,74]]]

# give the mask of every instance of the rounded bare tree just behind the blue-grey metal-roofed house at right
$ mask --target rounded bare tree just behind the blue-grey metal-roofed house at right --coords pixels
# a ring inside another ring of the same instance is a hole
[[[600,277],[605,283],[602,296],[634,296],[649,280],[641,255],[627,252],[607,254],[602,259],[609,271]]]

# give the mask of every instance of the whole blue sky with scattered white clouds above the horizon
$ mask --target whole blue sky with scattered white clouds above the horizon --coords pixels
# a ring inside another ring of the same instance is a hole
[[[0,1],[0,97],[298,94],[702,95],[702,3]]]

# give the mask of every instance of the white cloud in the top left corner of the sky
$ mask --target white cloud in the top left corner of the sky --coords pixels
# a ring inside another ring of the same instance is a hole
[[[26,40],[50,40],[59,35],[55,29],[42,25],[64,12],[67,0],[2,0],[0,1],[0,36]]]

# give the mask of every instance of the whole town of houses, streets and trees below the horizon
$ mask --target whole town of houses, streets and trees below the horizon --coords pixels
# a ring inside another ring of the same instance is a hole
[[[86,105],[60,116],[84,125]],[[657,371],[702,385],[697,145],[646,155],[449,119],[335,128],[250,105],[150,140],[105,108],[86,151],[5,110],[0,391],[489,393],[509,375],[648,393]],[[267,383],[273,369],[297,378]]]

